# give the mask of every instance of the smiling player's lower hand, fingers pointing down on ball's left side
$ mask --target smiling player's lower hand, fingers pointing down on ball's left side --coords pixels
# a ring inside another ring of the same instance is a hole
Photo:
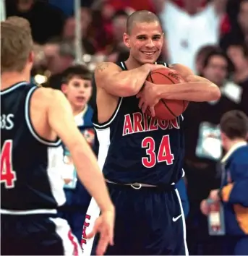
[[[140,98],[139,108],[142,109],[142,112],[145,113],[146,109],[149,108],[151,116],[155,116],[154,106],[159,101],[156,85],[152,82],[145,81],[144,88],[136,97]]]

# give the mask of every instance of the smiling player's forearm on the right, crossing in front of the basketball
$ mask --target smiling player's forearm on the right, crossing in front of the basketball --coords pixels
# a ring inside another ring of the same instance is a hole
[[[176,85],[156,85],[158,98],[185,101],[217,101],[221,92],[212,82],[185,82]]]

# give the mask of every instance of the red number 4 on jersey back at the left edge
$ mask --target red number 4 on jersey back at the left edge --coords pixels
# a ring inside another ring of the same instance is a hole
[[[14,187],[17,176],[12,167],[12,140],[6,140],[1,148],[1,183],[7,189]]]

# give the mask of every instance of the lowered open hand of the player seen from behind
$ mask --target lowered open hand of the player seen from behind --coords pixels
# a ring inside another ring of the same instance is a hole
[[[87,234],[87,239],[95,236],[96,233],[100,233],[100,239],[96,248],[97,255],[104,255],[108,244],[114,245],[114,210],[108,210],[101,213],[101,216],[95,221],[93,231]]]

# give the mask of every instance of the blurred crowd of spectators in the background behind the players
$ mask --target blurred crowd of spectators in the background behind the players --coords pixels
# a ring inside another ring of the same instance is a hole
[[[122,35],[134,10],[158,14],[165,32],[160,59],[190,67],[221,88],[218,102],[190,103],[184,113],[184,171],[189,196],[187,240],[191,255],[218,255],[219,237],[208,235],[200,202],[220,187],[223,155],[218,124],[231,109],[248,115],[248,0],[82,0],[82,64],[90,71],[101,61],[129,55]],[[35,41],[33,79],[61,87],[61,73],[74,64],[75,24],[72,0],[9,0],[8,16],[29,20]],[[95,90],[90,103],[93,104]]]

